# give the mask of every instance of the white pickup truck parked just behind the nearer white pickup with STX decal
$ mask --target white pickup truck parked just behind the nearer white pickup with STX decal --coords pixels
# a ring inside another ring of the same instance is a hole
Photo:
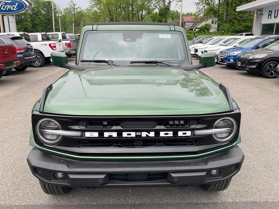
[[[75,55],[77,49],[75,38],[73,37],[71,38],[70,36],[68,36],[68,34],[63,32],[51,32],[47,34],[49,34],[51,40],[62,39],[64,51],[65,54],[68,55],[68,57]],[[77,36],[77,40],[78,40],[78,36]]]

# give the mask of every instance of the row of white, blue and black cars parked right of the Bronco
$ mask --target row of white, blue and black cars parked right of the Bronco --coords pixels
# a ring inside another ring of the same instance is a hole
[[[201,36],[190,45],[192,56],[216,52],[217,63],[275,78],[279,64],[279,36]]]

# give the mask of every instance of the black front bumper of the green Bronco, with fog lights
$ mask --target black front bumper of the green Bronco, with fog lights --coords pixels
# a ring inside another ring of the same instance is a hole
[[[40,181],[68,187],[143,187],[202,185],[224,181],[241,168],[244,154],[232,149],[203,158],[176,161],[77,161],[32,148],[27,162]],[[212,177],[210,170],[220,170]],[[55,172],[64,173],[57,180]]]

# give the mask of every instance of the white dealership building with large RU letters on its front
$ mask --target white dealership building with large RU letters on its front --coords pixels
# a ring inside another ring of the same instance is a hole
[[[258,0],[239,6],[236,11],[255,11],[255,36],[279,35],[279,0]]]

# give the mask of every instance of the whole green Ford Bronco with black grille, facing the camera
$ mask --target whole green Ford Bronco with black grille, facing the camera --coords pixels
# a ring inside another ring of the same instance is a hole
[[[192,64],[185,31],[169,23],[92,23],[75,64],[32,110],[27,158],[43,191],[200,185],[226,189],[244,154],[240,110],[226,86]],[[214,69],[212,69],[214,70]]]

